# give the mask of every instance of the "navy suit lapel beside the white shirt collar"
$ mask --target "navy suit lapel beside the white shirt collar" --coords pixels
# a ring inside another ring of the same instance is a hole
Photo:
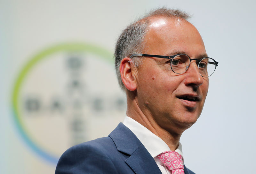
[[[136,174],[161,174],[154,158],[125,125],[120,123],[108,136],[114,141],[119,152],[130,155],[125,163]]]

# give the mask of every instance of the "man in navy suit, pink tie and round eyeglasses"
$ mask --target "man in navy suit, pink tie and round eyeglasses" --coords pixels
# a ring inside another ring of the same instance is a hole
[[[182,132],[201,114],[218,62],[188,15],[166,8],[128,26],[116,44],[127,117],[108,137],[68,149],[59,173],[193,174],[183,165]]]

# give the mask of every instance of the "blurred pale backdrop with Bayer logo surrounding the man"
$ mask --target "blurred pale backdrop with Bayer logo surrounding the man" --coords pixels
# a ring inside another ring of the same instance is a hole
[[[113,53],[152,8],[193,17],[219,62],[201,117],[183,133],[197,174],[255,173],[255,1],[0,0],[0,173],[54,173],[60,155],[125,117]]]

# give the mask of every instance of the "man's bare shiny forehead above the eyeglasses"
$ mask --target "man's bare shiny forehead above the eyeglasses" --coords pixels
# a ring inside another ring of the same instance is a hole
[[[204,42],[196,27],[177,17],[151,17],[143,51],[157,55],[170,55],[177,51],[206,54]]]

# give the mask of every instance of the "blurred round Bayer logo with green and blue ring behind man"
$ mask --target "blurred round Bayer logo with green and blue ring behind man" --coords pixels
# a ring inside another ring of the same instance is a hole
[[[61,44],[32,57],[17,78],[13,113],[30,148],[56,163],[70,146],[107,136],[126,102],[113,56],[88,44]]]

